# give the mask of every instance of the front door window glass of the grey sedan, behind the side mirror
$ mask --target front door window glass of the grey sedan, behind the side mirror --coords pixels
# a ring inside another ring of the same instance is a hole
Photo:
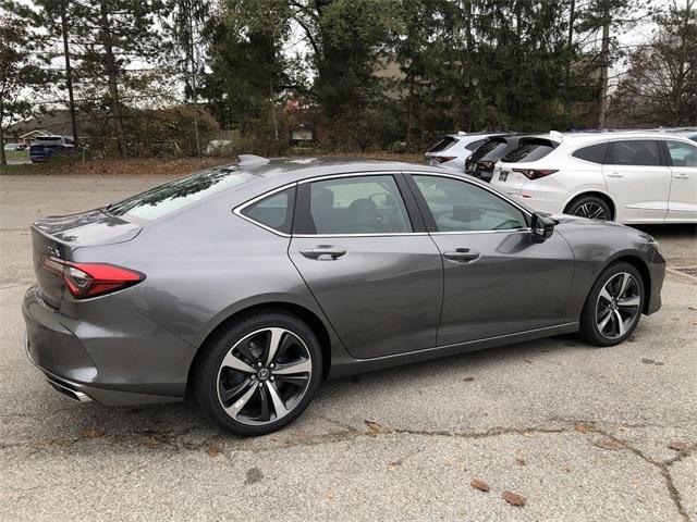
[[[489,190],[439,176],[413,176],[437,232],[510,231],[527,227],[525,215]]]

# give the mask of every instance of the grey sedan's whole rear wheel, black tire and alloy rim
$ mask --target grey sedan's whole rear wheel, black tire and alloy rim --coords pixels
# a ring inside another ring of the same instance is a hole
[[[304,322],[283,312],[254,313],[211,339],[194,393],[223,430],[264,435],[299,417],[319,387],[321,370],[321,348]]]

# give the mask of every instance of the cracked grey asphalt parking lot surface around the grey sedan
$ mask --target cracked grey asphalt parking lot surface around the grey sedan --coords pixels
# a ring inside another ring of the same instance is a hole
[[[558,337],[332,381],[266,437],[189,405],[58,395],[22,347],[28,223],[163,179],[0,176],[0,520],[697,521],[697,278],[672,270],[621,346]],[[669,266],[697,266],[695,227],[646,229]]]

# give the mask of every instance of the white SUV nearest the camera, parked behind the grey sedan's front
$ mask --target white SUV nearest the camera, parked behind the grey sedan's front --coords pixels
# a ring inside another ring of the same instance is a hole
[[[697,223],[697,144],[646,132],[523,138],[491,184],[536,210],[620,223]]]

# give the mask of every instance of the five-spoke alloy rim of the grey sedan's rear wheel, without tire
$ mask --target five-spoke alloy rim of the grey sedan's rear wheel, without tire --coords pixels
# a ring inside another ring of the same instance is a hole
[[[313,361],[290,330],[253,332],[228,351],[218,370],[218,400],[236,422],[262,425],[288,415],[307,391]]]

